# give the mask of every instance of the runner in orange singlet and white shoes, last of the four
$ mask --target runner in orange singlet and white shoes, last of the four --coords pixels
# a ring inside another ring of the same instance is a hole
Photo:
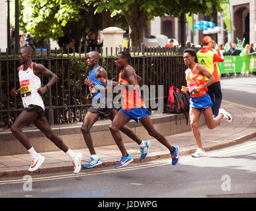
[[[232,115],[225,111],[224,109],[220,109],[219,115],[212,119],[212,100],[210,96],[208,96],[207,86],[210,86],[215,80],[212,73],[210,73],[206,67],[194,62],[196,58],[196,51],[194,49],[185,49],[183,51],[183,58],[185,65],[189,68],[186,71],[186,81],[187,87],[183,86],[181,88],[181,92],[191,92],[190,98],[190,112],[189,117],[191,119],[191,128],[194,134],[194,138],[196,139],[196,144],[198,145],[198,149],[196,152],[191,154],[192,157],[202,157],[205,156],[204,148],[202,147],[200,131],[198,129],[198,121],[200,118],[201,111],[204,113],[204,117],[206,120],[206,125],[209,129],[214,129],[218,123],[222,119],[226,119],[227,121],[232,121]],[[209,80],[205,80],[205,76],[209,78]]]

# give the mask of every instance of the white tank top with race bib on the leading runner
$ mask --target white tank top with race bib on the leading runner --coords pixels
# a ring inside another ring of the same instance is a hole
[[[22,104],[24,107],[32,104],[44,109],[42,96],[37,92],[37,89],[41,87],[41,80],[38,76],[34,75],[33,65],[34,63],[31,63],[30,67],[26,70],[24,70],[24,65],[22,65],[21,69],[19,69]]]

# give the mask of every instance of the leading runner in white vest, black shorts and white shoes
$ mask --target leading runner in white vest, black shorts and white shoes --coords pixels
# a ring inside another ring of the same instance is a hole
[[[64,151],[72,160],[74,173],[79,173],[81,170],[81,152],[75,153],[70,150],[63,142],[62,138],[55,135],[44,116],[44,102],[41,95],[47,92],[57,80],[58,76],[46,69],[42,64],[32,63],[34,50],[30,46],[21,47],[19,50],[19,62],[21,66],[18,68],[20,88],[11,90],[11,96],[21,94],[24,110],[17,117],[11,127],[13,135],[21,142],[21,144],[31,154],[32,161],[28,171],[36,171],[44,162],[44,156],[38,154],[32,147],[26,135],[21,131],[22,127],[34,123],[42,133],[46,135],[58,148]],[[41,87],[40,78],[42,75],[50,78],[49,82]]]

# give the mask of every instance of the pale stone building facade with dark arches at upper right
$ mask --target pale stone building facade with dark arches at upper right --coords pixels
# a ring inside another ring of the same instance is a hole
[[[226,30],[226,24],[220,13],[213,14],[213,22],[223,30],[216,34],[210,34],[218,44],[226,42],[236,42],[236,38],[243,40],[246,44],[256,44],[256,0],[230,0],[230,13],[232,20],[232,34]],[[209,20],[207,16],[194,15],[194,24],[198,20]],[[203,30],[194,30],[192,34],[189,24],[186,22],[186,40],[194,45],[202,44],[202,38],[205,36]],[[155,17],[149,20],[148,28],[145,28],[146,37],[164,34],[168,38],[175,38],[181,43],[181,20],[173,16],[165,18]]]

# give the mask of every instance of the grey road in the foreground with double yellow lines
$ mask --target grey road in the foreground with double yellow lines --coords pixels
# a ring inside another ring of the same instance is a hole
[[[208,152],[206,158],[183,156],[177,166],[171,166],[170,160],[165,159],[130,164],[122,169],[91,169],[78,175],[38,175],[32,177],[32,183],[22,178],[2,178],[0,197],[167,198],[247,193],[256,196],[255,160],[256,138]]]

